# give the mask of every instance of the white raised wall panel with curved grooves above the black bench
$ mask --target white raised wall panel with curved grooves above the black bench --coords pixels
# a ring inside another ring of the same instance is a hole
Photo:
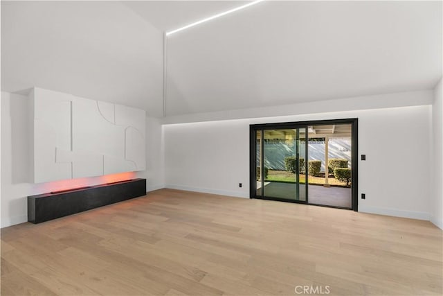
[[[145,170],[145,110],[41,88],[29,96],[35,183]]]

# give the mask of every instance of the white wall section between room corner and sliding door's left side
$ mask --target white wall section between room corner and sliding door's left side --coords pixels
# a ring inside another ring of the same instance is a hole
[[[165,186],[248,198],[251,122],[165,125]]]

